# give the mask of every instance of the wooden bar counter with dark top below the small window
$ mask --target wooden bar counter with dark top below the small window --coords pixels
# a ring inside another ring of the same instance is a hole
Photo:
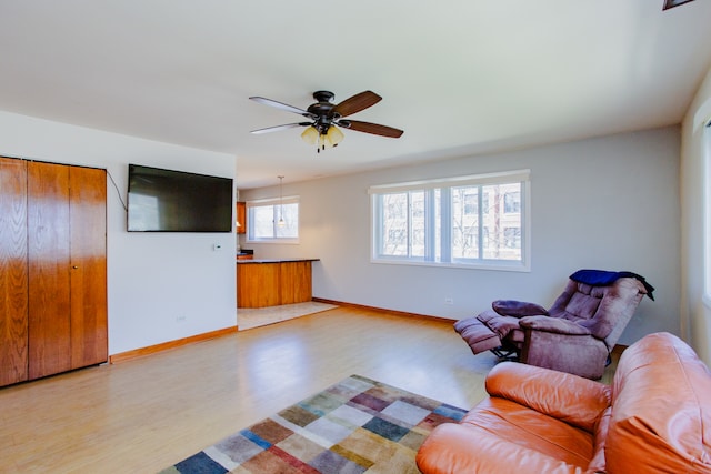
[[[238,260],[237,307],[311,301],[311,262],[318,260]]]

